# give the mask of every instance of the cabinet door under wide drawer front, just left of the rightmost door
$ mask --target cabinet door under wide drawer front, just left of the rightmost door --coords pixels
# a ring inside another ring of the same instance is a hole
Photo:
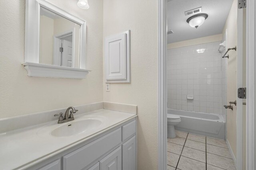
[[[122,150],[118,147],[100,161],[100,170],[121,170]]]

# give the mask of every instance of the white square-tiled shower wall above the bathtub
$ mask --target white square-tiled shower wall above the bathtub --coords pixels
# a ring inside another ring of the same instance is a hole
[[[168,108],[221,114],[226,68],[220,43],[168,49]],[[194,95],[194,100],[187,95]]]

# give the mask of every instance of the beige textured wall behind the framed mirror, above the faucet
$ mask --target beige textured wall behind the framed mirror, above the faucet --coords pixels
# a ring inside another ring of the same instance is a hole
[[[86,66],[92,72],[83,80],[28,77],[21,64],[25,0],[0,0],[0,118],[103,100],[103,0],[91,0],[89,10],[73,0],[48,1],[87,21]]]

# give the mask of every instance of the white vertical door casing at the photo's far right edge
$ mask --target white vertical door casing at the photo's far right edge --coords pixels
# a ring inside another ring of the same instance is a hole
[[[246,170],[256,169],[256,2],[246,0]]]

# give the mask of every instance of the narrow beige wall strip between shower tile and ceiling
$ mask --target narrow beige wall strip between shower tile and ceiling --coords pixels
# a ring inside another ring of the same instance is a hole
[[[216,41],[222,41],[222,34],[211,35],[211,36],[201,37],[201,38],[196,38],[196,39],[189,39],[186,41],[179,41],[176,43],[170,43],[167,45],[167,49],[186,47],[186,46],[190,46],[190,45],[205,44],[205,43],[211,43],[211,42],[216,42]]]

